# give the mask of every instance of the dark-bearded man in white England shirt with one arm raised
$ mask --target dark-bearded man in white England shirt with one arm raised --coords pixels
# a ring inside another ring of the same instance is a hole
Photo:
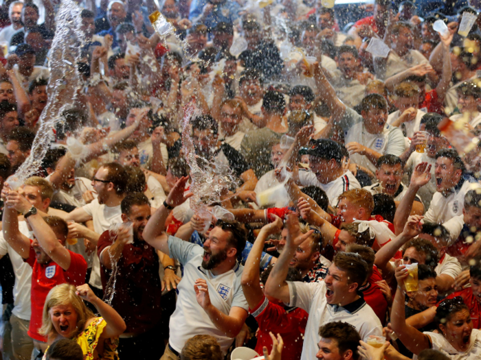
[[[240,283],[244,267],[236,260],[247,239],[240,224],[217,221],[203,249],[164,232],[170,210],[192,196],[184,193],[187,180],[183,177],[177,181],[144,230],[147,243],[183,265],[177,304],[170,317],[172,336],[161,360],[178,360],[186,341],[199,334],[215,336],[225,355],[247,318],[248,306]]]

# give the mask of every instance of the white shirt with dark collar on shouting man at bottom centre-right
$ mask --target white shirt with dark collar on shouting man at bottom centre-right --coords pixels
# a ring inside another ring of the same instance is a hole
[[[291,302],[289,307],[300,307],[309,313],[304,333],[301,360],[315,359],[319,350],[319,328],[328,322],[342,321],[353,325],[361,339],[366,341],[369,335],[382,335],[383,326],[379,317],[366,304],[363,298],[346,305],[346,308],[330,305],[326,301],[326,283],[287,282]]]

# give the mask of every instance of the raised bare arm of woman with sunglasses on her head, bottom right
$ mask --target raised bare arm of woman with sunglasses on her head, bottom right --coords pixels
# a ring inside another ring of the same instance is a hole
[[[405,313],[405,294],[406,289],[404,280],[407,278],[408,272],[404,265],[401,265],[401,260],[396,260],[396,280],[398,283],[398,290],[394,296],[391,311],[391,326],[392,330],[399,337],[404,346],[418,355],[424,349],[429,349],[431,341],[428,335],[421,333],[418,329],[406,324]]]

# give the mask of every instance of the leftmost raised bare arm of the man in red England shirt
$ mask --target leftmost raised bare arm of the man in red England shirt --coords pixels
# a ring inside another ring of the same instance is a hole
[[[4,186],[2,191],[2,197],[5,201],[5,208],[3,209],[3,237],[8,242],[8,244],[22,256],[22,259],[28,259],[30,255],[30,239],[25,237],[19,230],[19,219],[17,217],[17,212],[12,204],[8,202],[9,189]],[[16,193],[15,191],[10,191],[10,193]],[[16,193],[18,195],[18,193]],[[11,195],[10,195],[11,196]]]

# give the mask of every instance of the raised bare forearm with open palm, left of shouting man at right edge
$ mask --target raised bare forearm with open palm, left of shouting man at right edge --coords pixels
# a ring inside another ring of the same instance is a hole
[[[411,214],[416,193],[418,193],[419,189],[427,184],[429,180],[431,180],[431,165],[427,165],[427,163],[416,165],[411,175],[410,185],[407,188],[403,200],[399,202],[399,206],[396,208],[396,213],[394,214],[394,230],[396,235],[400,234],[404,229],[407,218]]]

